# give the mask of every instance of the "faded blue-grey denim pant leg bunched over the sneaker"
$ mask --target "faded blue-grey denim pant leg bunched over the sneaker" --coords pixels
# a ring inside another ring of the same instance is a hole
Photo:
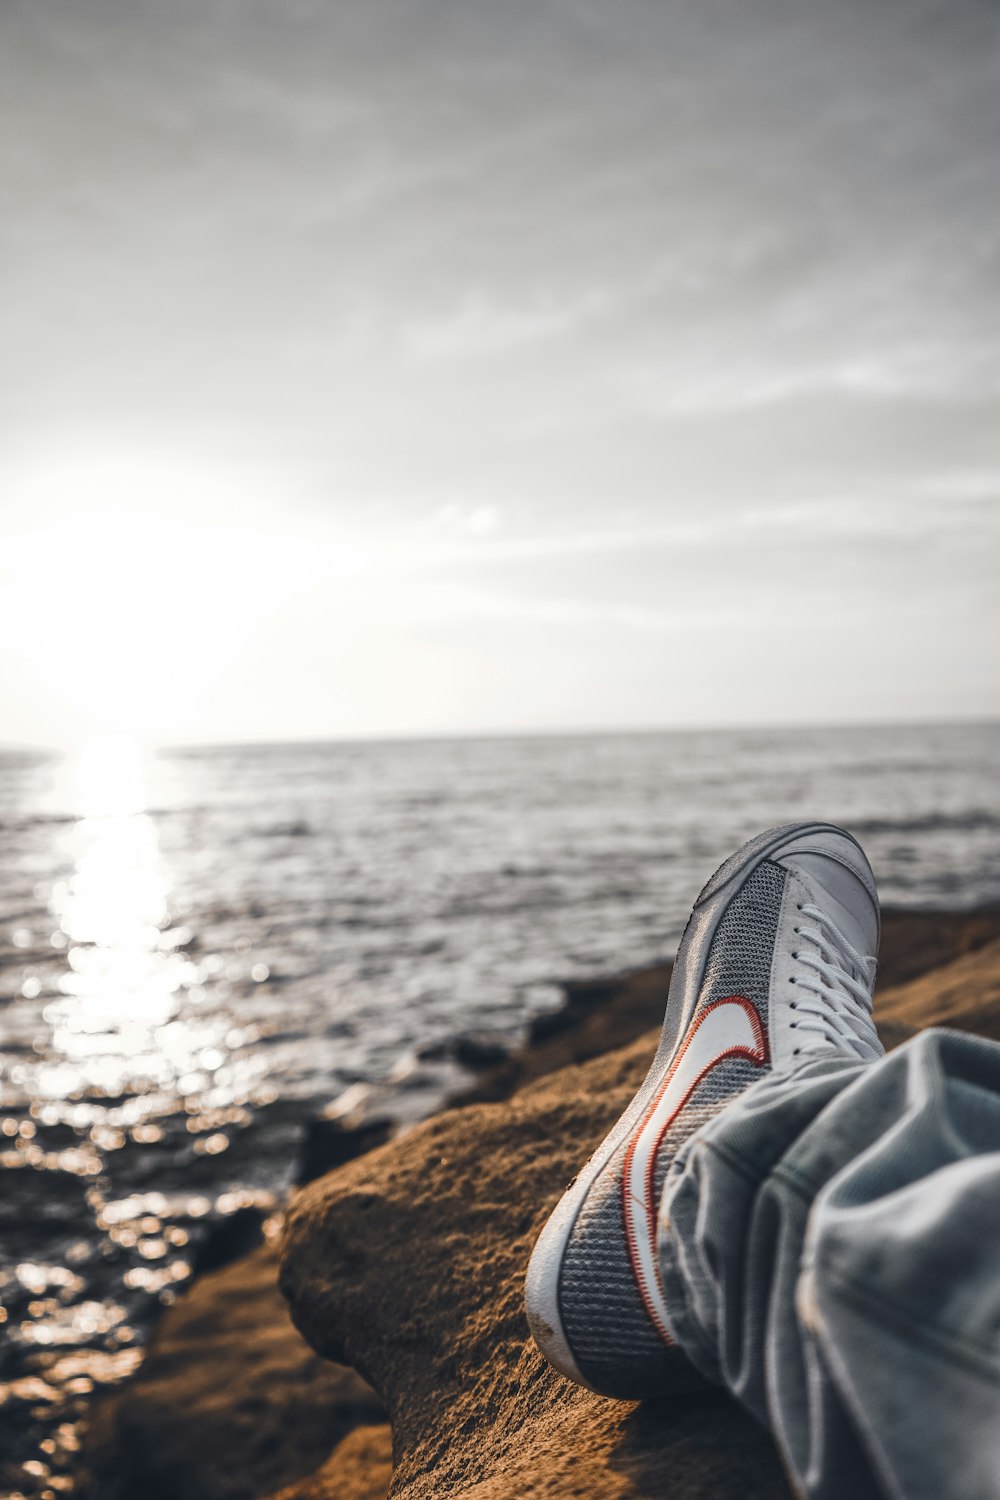
[[[1000,1500],[1000,1046],[771,1074],[679,1154],[672,1332],[810,1500]]]

